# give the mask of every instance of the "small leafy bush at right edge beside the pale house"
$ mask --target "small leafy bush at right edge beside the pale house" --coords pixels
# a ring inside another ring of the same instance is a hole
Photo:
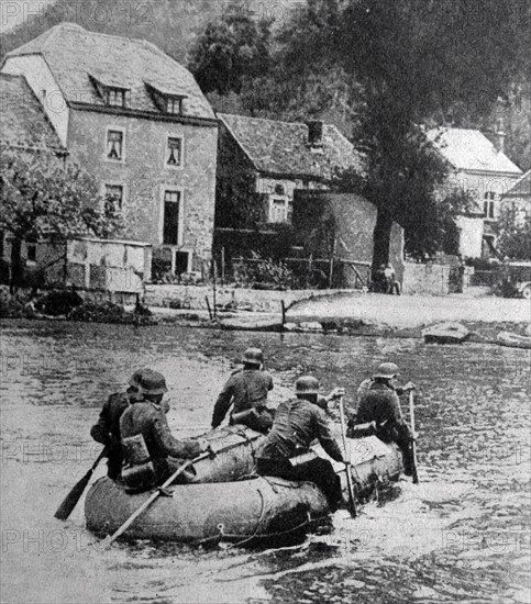
[[[531,215],[516,205],[504,206],[496,224],[496,247],[502,256],[531,260]]]

